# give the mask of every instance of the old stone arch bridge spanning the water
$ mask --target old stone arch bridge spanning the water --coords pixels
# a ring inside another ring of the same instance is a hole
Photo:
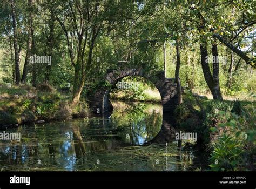
[[[109,69],[103,78],[110,86],[117,84],[119,80],[127,76],[141,76],[150,80],[158,89],[161,96],[163,112],[172,112],[178,103],[177,85],[174,78],[165,78],[164,71],[143,69],[142,66],[129,68],[123,63],[118,64],[118,69]],[[111,87],[100,87],[89,98],[90,109],[93,113],[102,114],[109,110],[109,92]]]

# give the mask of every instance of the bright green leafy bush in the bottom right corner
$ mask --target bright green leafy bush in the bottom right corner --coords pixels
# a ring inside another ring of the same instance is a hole
[[[255,112],[242,111],[238,116],[235,113],[221,111],[218,118],[218,127],[213,130],[218,137],[210,144],[212,148],[211,170],[255,170]]]

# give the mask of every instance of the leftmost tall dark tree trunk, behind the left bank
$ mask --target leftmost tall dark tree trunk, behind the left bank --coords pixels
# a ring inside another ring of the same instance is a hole
[[[16,22],[16,12],[15,12],[15,0],[11,1],[11,15],[12,15],[12,28],[14,32],[14,54],[15,54],[15,76],[16,84],[21,82],[21,73],[19,72],[19,49],[18,49],[18,37],[17,37],[17,22]]]

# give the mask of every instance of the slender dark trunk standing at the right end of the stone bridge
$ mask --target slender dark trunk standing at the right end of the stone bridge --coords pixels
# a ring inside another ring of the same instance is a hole
[[[181,84],[179,78],[179,70],[180,70],[180,51],[179,51],[179,43],[178,40],[176,41],[176,69],[175,69],[175,80],[177,84],[178,90],[178,104],[182,103],[182,91],[181,91]]]

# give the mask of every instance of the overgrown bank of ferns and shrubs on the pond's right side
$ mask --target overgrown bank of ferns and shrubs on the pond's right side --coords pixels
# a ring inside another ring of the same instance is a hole
[[[255,171],[255,101],[225,101],[184,96],[176,109],[179,127],[197,132],[198,143],[210,153],[212,171]]]

